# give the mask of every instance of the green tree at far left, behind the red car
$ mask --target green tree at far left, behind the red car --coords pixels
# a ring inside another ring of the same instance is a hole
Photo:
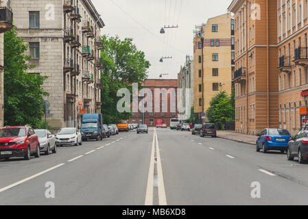
[[[26,72],[34,67],[27,64],[32,57],[17,34],[16,28],[4,34],[4,124],[35,128],[43,117],[43,96],[49,95],[40,88],[47,77]]]

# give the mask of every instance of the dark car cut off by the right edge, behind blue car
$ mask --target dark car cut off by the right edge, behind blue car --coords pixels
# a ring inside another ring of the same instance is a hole
[[[298,157],[300,164],[308,162],[308,130],[299,131],[287,144],[287,159],[294,157]]]

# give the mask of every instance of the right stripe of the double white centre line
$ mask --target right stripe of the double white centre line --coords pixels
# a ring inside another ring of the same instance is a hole
[[[161,166],[161,155],[159,153],[159,145],[157,133],[155,132],[156,138],[156,158],[157,158],[157,176],[158,176],[158,203],[159,205],[167,205],[167,198],[165,192],[165,185],[163,179],[163,168]]]

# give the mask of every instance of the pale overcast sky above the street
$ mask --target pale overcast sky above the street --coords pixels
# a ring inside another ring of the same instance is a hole
[[[133,38],[150,61],[149,78],[176,79],[186,55],[193,55],[195,25],[227,12],[232,0],[92,0],[106,25],[103,34]],[[164,25],[178,28],[159,31]],[[162,56],[170,57],[163,63]]]

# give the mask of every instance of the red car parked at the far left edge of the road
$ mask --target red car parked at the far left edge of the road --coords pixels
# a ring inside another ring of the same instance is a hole
[[[38,136],[29,126],[5,127],[0,131],[0,159],[40,157]]]

